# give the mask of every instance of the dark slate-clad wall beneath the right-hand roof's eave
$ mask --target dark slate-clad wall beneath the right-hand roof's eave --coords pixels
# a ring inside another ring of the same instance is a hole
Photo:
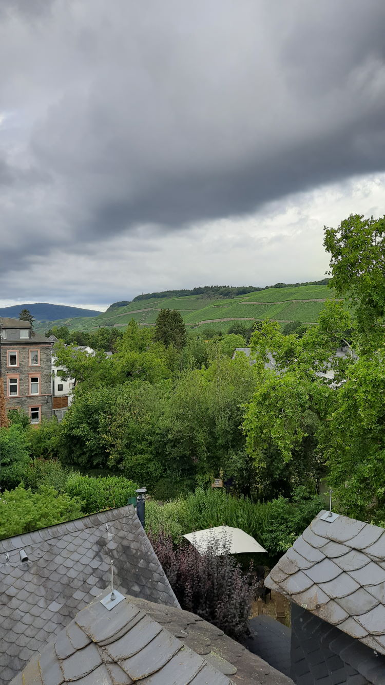
[[[297,685],[385,685],[385,657],[293,603],[290,675]]]

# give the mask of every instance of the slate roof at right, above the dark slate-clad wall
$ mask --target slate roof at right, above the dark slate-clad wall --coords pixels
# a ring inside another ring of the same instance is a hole
[[[328,513],[319,512],[265,584],[385,654],[385,530]]]

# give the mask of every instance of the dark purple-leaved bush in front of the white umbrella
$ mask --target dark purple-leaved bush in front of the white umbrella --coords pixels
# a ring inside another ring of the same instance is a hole
[[[254,595],[252,573],[243,574],[228,551],[217,554],[212,543],[204,553],[181,543],[176,549],[172,538],[149,532],[172,589],[181,607],[198,614],[236,640],[248,634],[248,621]]]

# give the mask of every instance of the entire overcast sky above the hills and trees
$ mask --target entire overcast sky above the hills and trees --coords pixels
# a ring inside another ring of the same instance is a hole
[[[0,304],[322,278],[384,214],[384,0],[0,0]]]

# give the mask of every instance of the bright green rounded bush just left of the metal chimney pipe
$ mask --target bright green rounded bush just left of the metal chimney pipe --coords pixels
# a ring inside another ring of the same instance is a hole
[[[74,473],[66,482],[66,492],[70,497],[79,497],[85,514],[122,507],[129,497],[135,497],[136,483],[122,476],[92,478]]]

